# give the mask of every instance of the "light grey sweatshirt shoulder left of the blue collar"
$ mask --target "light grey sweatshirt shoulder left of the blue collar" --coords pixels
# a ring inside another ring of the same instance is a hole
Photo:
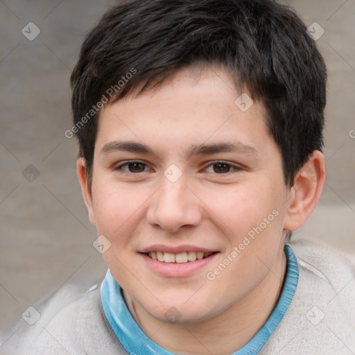
[[[21,327],[4,354],[126,354],[102,313],[99,284],[70,302],[68,293],[46,304],[36,324]]]

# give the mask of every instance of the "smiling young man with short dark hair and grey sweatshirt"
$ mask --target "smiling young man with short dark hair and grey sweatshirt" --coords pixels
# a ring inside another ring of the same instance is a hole
[[[271,0],[123,0],[71,76],[109,270],[34,354],[351,354],[354,266],[293,241],[324,184],[326,69]]]

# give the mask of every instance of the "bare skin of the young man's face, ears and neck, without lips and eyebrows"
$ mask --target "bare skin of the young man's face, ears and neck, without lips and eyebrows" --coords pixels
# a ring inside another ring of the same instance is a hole
[[[265,109],[254,102],[242,112],[234,104],[240,95],[223,67],[183,69],[161,87],[101,111],[92,185],[85,160],[77,162],[89,219],[111,243],[103,257],[125,300],[132,301],[133,317],[155,343],[178,354],[230,354],[257,333],[282,290],[286,230],[302,227],[324,184],[324,158],[315,151],[294,186],[285,185]],[[101,153],[112,141],[144,143],[154,153]],[[186,153],[192,144],[225,141],[256,153]],[[121,166],[128,160],[146,165]],[[216,166],[216,160],[230,166]],[[175,182],[164,176],[171,164],[182,173]],[[207,279],[275,210],[278,216],[238,257]],[[164,277],[139,254],[156,244],[208,247],[218,254],[188,277]],[[175,324],[164,316],[172,306],[181,317]]]

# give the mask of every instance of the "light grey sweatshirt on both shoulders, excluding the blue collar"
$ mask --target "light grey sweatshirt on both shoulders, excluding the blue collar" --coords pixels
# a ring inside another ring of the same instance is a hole
[[[306,239],[288,245],[300,267],[297,288],[258,354],[355,354],[354,259]],[[34,325],[19,323],[21,328],[3,339],[0,354],[128,354],[107,322],[99,286],[86,293],[67,286],[41,307],[42,316]]]

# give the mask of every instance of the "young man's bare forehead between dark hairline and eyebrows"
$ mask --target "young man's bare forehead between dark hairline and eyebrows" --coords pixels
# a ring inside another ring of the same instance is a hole
[[[236,89],[223,67],[189,67],[159,87],[104,107],[96,143],[103,149],[125,139],[139,142],[135,149],[141,153],[149,153],[152,144],[159,149],[184,146],[191,153],[202,143],[230,142],[258,152],[271,136],[266,110],[250,96]]]

